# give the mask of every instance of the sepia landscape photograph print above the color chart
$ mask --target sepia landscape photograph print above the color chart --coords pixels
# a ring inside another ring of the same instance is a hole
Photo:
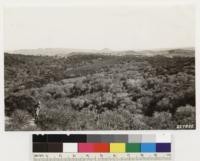
[[[6,131],[196,129],[195,7],[4,9]]]

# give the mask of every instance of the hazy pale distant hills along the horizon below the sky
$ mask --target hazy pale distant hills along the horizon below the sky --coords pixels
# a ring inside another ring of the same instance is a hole
[[[102,50],[95,49],[72,49],[72,48],[39,48],[39,49],[22,49],[9,51],[8,53],[13,54],[23,54],[23,55],[45,55],[45,56],[62,56],[68,57],[72,55],[84,55],[84,54],[103,54],[103,55],[141,55],[141,56],[154,56],[154,55],[164,55],[168,57],[173,56],[195,56],[194,48],[177,48],[177,49],[157,49],[157,50],[122,50],[113,51],[109,48],[104,48]]]

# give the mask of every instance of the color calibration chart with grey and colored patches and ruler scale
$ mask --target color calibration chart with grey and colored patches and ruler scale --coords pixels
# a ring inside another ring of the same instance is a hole
[[[33,161],[172,161],[170,134],[33,135]]]

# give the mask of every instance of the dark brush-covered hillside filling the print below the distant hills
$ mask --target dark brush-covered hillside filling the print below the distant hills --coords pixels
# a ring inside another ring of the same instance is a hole
[[[4,63],[6,130],[195,128],[194,57],[5,53]]]

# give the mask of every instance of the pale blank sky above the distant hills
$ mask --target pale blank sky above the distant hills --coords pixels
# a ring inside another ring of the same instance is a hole
[[[4,12],[5,50],[134,50],[194,47],[190,5],[12,7]]]

